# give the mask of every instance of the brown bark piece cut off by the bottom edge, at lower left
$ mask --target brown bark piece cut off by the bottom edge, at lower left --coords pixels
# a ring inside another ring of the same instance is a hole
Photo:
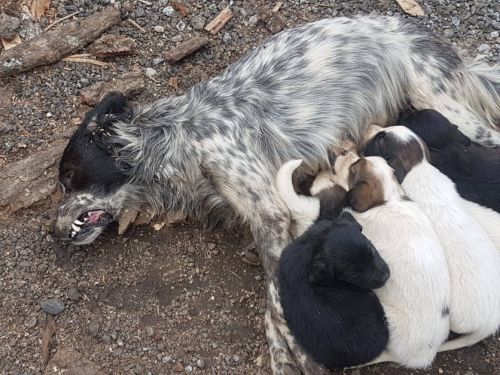
[[[99,367],[72,348],[59,349],[43,375],[104,375]]]

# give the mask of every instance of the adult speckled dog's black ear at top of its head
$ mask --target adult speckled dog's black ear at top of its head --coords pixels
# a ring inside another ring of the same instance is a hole
[[[132,109],[127,103],[125,95],[112,92],[107,94],[88,114],[86,130],[90,133],[102,132],[114,120],[125,120],[132,115]]]

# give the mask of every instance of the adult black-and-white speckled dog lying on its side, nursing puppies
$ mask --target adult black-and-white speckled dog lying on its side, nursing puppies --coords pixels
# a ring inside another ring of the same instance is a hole
[[[289,212],[273,185],[281,164],[328,166],[343,138],[359,141],[367,124],[393,123],[408,101],[438,110],[477,142],[500,145],[498,67],[465,63],[399,18],[325,19],[284,31],[182,96],[131,108],[115,95],[88,113],[61,160],[66,193],[54,233],[88,244],[125,206],[144,204],[204,222],[237,219],[251,228],[272,281],[289,243]],[[269,298],[279,305],[275,289]],[[266,314],[273,370],[308,372],[273,325],[277,310]]]

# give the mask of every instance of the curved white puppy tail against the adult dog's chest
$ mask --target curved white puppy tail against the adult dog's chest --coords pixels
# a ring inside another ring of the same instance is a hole
[[[290,160],[283,164],[276,175],[276,189],[296,223],[296,235],[300,236],[319,216],[319,199],[298,195],[293,188],[292,175],[302,160]]]

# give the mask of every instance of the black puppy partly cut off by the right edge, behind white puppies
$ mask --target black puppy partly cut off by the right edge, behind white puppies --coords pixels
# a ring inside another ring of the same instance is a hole
[[[439,112],[404,112],[399,125],[427,144],[430,163],[447,175],[465,199],[500,212],[500,149],[472,142]]]

